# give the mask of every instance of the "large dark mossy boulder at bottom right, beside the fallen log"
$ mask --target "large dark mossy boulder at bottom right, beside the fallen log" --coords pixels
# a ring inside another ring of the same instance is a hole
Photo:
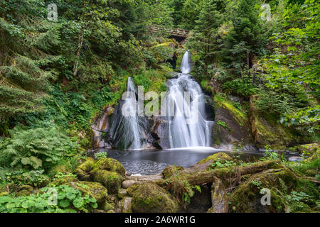
[[[232,207],[238,213],[284,212],[284,197],[297,185],[297,177],[287,167],[252,175],[231,194]],[[271,205],[262,205],[261,189],[270,189]]]

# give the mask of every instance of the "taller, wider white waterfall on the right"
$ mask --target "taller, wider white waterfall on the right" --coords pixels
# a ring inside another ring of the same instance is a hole
[[[183,55],[178,78],[167,82],[167,111],[169,143],[171,148],[210,146],[210,128],[213,121],[206,121],[205,101],[199,84],[188,74],[191,71],[188,51]],[[190,99],[183,97],[190,92]],[[190,100],[190,104],[188,104]],[[191,121],[191,120],[194,121]]]

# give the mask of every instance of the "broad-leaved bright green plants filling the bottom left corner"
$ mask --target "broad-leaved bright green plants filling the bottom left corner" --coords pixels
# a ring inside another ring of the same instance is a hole
[[[56,201],[54,203],[54,191]],[[49,202],[50,201],[50,202]],[[82,196],[78,189],[61,185],[41,189],[41,193],[12,198],[0,196],[0,213],[76,213],[97,208],[97,202],[89,195]]]

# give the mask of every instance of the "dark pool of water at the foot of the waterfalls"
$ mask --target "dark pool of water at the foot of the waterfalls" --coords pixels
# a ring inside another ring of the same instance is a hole
[[[252,162],[264,153],[235,152],[214,148],[176,148],[169,150],[105,150],[98,149],[94,153],[107,152],[107,157],[122,163],[125,170],[132,175],[154,175],[162,172],[166,166],[177,165],[191,167],[209,155],[224,152],[245,162]],[[93,155],[93,154],[92,154]]]

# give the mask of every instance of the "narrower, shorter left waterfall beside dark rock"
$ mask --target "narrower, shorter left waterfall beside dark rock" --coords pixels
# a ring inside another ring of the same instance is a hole
[[[119,103],[114,111],[110,134],[112,135],[112,147],[119,149],[141,149],[146,138],[145,129],[146,120],[139,117],[137,89],[132,81],[128,78],[127,82],[127,98]],[[129,116],[122,111],[131,113]]]

